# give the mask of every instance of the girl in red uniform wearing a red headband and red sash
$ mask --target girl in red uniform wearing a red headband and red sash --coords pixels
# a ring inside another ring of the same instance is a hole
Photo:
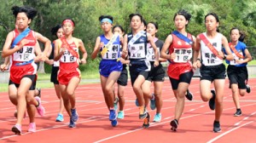
[[[79,63],[85,64],[87,52],[81,39],[73,37],[75,23],[71,19],[65,19],[62,22],[64,31],[63,37],[55,40],[55,61],[60,60],[60,70],[58,73],[59,86],[64,106],[70,116],[68,127],[74,128],[79,115],[76,111],[75,89],[77,89],[81,74]],[[79,50],[81,50],[82,59],[79,60]]]

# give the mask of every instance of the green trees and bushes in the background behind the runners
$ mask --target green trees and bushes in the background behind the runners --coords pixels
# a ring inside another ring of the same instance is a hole
[[[219,30],[224,36],[230,35],[232,27],[238,27],[247,35],[245,43],[256,45],[256,1],[255,0],[0,0],[0,50],[8,32],[15,28],[15,17],[12,6],[31,6],[38,10],[38,16],[32,21],[31,28],[42,33],[50,40],[50,29],[65,18],[75,21],[74,37],[83,40],[90,54],[96,37],[102,34],[98,17],[102,14],[113,16],[113,25],[123,26],[130,32],[128,15],[139,13],[146,21],[154,21],[159,25],[157,36],[165,40],[175,30],[173,16],[179,9],[186,9],[192,18],[187,30],[193,35],[206,31],[204,16],[209,12],[218,14]],[[91,65],[81,66],[81,70],[96,67],[98,60],[90,61]]]

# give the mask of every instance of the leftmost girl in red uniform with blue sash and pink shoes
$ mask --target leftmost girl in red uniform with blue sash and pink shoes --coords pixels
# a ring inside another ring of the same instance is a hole
[[[29,24],[36,16],[37,10],[31,7],[13,7],[15,15],[15,24],[18,25],[15,31],[10,31],[3,46],[3,57],[11,55],[9,88],[17,90],[17,122],[12,128],[15,134],[21,134],[21,123],[24,117],[26,106],[31,123],[28,131],[34,132],[36,124],[34,123],[35,106],[38,113],[44,116],[44,107],[38,97],[33,97],[35,93],[37,79],[37,65],[35,60],[46,60],[46,53],[50,47],[48,38],[42,36],[36,31],[29,29]],[[35,46],[37,40],[44,43],[44,53],[35,57]]]

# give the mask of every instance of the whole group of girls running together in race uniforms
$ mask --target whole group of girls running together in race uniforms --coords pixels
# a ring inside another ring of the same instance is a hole
[[[30,117],[28,131],[36,131],[34,121],[36,110],[39,115],[44,116],[44,106],[40,98],[34,97],[37,80],[35,62],[38,61],[53,65],[51,82],[54,83],[55,92],[60,99],[60,112],[56,121],[64,120],[65,107],[70,117],[68,126],[75,127],[79,119],[75,100],[75,90],[81,79],[79,63],[85,64],[87,58],[84,43],[81,39],[73,37],[75,22],[65,19],[61,25],[55,26],[52,33],[57,39],[50,44],[47,37],[29,28],[29,24],[37,14],[35,9],[15,6],[12,11],[17,27],[14,31],[10,31],[6,38],[2,56],[8,57],[9,61],[6,60],[1,65],[2,71],[7,70],[9,66],[9,96],[17,106],[17,123],[12,131],[21,134],[22,119],[26,110]],[[147,109],[149,102],[152,110],[156,108],[153,121],[161,121],[160,112],[163,105],[161,90],[165,81],[165,71],[161,62],[166,60],[170,63],[167,74],[177,99],[174,118],[170,123],[173,131],[177,130],[179,119],[183,114],[185,97],[188,100],[193,98],[191,94],[189,95],[189,83],[196,68],[200,68],[201,72],[201,99],[209,101],[210,108],[215,110],[213,131],[221,131],[219,121],[223,111],[224,60],[229,64],[227,73],[237,108],[234,115],[241,115],[238,94],[246,93],[246,66],[247,62],[252,60],[245,43],[242,43],[243,34],[238,28],[231,29],[231,42],[228,43],[227,38],[218,32],[218,15],[209,13],[205,16],[207,31],[195,37],[186,31],[190,17],[191,15],[185,10],[179,10],[174,14],[176,30],[166,37],[165,43],[156,37],[158,25],[155,22],[147,24],[141,14],[129,15],[131,32],[127,34],[122,26],[113,26],[112,16],[99,17],[103,34],[96,37],[96,44],[90,57],[95,59],[100,56],[102,59],[99,65],[102,92],[113,127],[118,125],[118,119],[125,117],[124,96],[128,81],[126,66],[129,66],[131,85],[139,107],[138,117],[143,119],[143,128],[149,127],[150,115]],[[36,46],[38,41],[44,43],[44,52]],[[82,52],[81,57],[79,51]],[[53,60],[48,58],[51,52],[54,55]],[[154,82],[153,94],[150,91],[152,82]],[[118,97],[113,88],[115,83],[118,83]],[[211,83],[214,89],[211,89]],[[119,112],[116,106],[118,103]]]

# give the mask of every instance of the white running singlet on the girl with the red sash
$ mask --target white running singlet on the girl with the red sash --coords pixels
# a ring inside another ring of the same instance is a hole
[[[205,37],[207,37],[206,32],[203,33]],[[208,39],[208,41],[212,44],[212,46],[217,50],[222,50],[222,34],[217,33],[216,37],[213,39]],[[207,47],[207,45],[201,40],[201,60],[202,64],[205,66],[217,66],[223,63],[223,60],[219,59],[215,54],[212,53],[211,49]]]

